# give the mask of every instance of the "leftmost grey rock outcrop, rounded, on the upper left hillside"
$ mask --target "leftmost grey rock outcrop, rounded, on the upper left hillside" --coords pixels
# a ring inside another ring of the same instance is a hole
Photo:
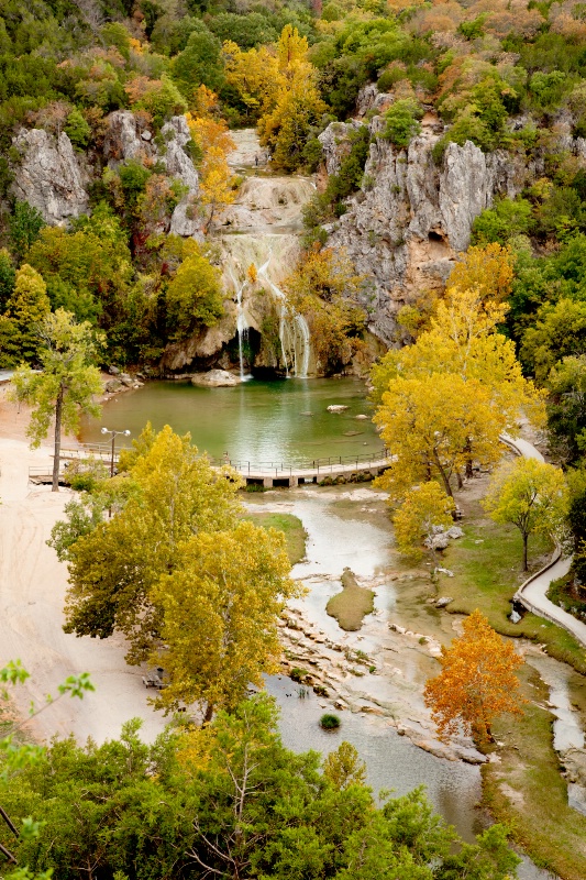
[[[82,174],[69,138],[44,129],[21,131],[12,141],[21,155],[14,167],[13,195],[37,208],[51,226],[64,226],[88,208]]]

